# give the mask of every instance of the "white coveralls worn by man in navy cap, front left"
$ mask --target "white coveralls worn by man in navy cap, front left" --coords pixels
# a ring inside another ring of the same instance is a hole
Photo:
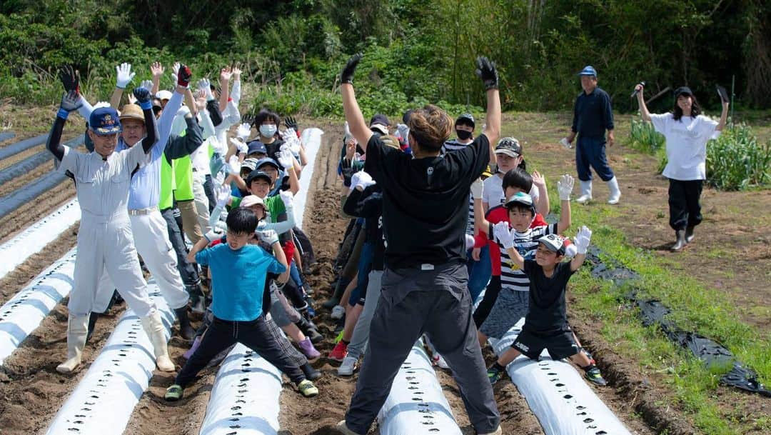
[[[70,315],[93,311],[99,275],[105,268],[136,315],[152,315],[156,306],[147,295],[126,208],[131,172],[145,164],[148,155],[141,145],[113,152],[106,160],[98,153],[79,153],[66,146],[64,150],[59,170],[74,175],[81,209],[75,285],[67,305]]]

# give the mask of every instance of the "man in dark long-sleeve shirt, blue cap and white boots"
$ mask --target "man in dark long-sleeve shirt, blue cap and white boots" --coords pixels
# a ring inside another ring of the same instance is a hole
[[[605,130],[608,130],[608,146],[613,147],[615,142],[611,97],[597,86],[597,71],[594,67],[585,67],[578,76],[581,76],[584,92],[576,98],[572,131],[567,137],[567,142],[572,143],[578,135],[576,169],[578,179],[581,180],[581,196],[576,202],[584,204],[591,201],[591,166],[601,180],[608,183],[611,191],[608,204],[618,204],[621,190],[605,157]]]

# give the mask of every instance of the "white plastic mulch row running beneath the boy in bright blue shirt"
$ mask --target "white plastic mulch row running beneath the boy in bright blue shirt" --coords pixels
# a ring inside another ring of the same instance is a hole
[[[295,195],[295,219],[299,228],[302,228],[322,134],[318,128],[307,128],[301,133],[308,164],[302,170],[300,191]],[[235,346],[214,379],[200,433],[275,435],[280,395],[281,372],[245,346]]]

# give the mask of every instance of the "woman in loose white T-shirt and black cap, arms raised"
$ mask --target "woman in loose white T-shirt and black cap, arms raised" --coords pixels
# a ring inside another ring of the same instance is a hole
[[[707,142],[726,126],[729,103],[723,101],[720,122],[715,122],[701,114],[691,89],[682,86],[675,89],[671,113],[651,114],[642,90],[643,86],[635,86],[642,119],[651,121],[666,138],[667,166],[662,174],[669,179],[669,226],[677,238],[672,251],[680,251],[693,240],[693,229],[702,221],[699,197],[706,179]]]

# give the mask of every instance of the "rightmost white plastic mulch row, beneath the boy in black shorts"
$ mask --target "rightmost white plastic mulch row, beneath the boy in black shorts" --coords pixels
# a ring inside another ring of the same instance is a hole
[[[520,320],[500,340],[490,339],[500,355],[517,339]],[[527,400],[547,435],[629,435],[629,430],[608,409],[583,376],[569,363],[554,361],[548,352],[540,361],[518,356],[507,366],[514,385]]]

